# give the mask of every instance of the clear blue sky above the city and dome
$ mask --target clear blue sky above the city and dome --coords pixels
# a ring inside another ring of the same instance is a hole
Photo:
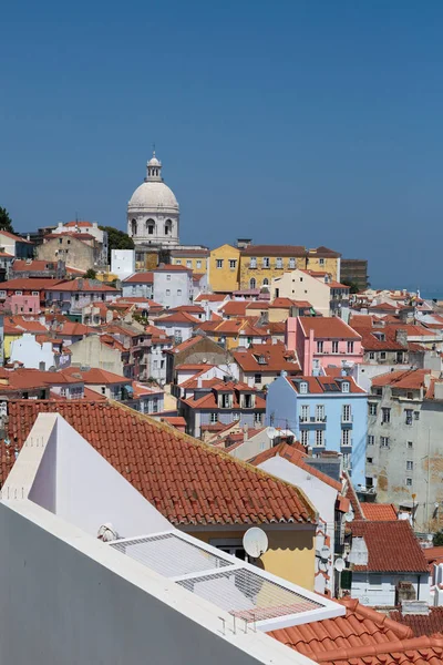
[[[0,205],[125,228],[155,142],[182,242],[328,245],[437,289],[442,29],[440,0],[8,2]]]

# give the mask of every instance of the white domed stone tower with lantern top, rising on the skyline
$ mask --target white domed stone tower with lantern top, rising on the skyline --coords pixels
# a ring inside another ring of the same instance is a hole
[[[179,206],[163,182],[162,162],[153,152],[146,164],[146,177],[127,204],[127,234],[137,245],[175,247],[178,239]]]

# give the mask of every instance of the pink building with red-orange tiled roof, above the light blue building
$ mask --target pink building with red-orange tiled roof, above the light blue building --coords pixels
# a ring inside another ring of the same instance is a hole
[[[289,317],[286,323],[286,346],[297,351],[306,376],[320,374],[321,368],[350,366],[363,361],[361,336],[338,317]]]

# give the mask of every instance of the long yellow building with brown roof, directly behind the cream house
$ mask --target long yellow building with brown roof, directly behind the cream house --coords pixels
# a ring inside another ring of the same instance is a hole
[[[240,253],[240,289],[270,287],[276,277],[296,268],[330,273],[340,280],[340,254],[300,245],[248,245]]]

